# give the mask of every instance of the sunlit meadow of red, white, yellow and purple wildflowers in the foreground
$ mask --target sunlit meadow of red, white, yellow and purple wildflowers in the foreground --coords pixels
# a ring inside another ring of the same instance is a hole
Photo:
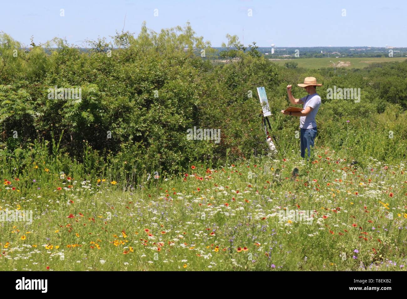
[[[35,161],[2,177],[2,211],[33,219],[0,225],[0,270],[403,271],[406,166],[350,162],[316,148],[122,188]]]

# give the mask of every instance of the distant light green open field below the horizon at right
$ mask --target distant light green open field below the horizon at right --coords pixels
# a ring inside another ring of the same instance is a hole
[[[332,67],[333,64],[330,62],[332,60],[337,64],[338,61],[344,62],[340,63],[340,68],[365,68],[370,63],[374,62],[390,62],[390,61],[403,61],[407,57],[379,57],[379,58],[304,58],[304,59],[279,59],[272,60],[273,62],[284,65],[287,61],[295,61],[298,63],[298,68],[328,68]]]

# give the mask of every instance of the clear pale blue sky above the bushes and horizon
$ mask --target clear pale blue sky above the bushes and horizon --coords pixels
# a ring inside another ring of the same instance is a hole
[[[64,17],[60,10],[64,9]],[[154,16],[158,9],[158,16]],[[249,16],[249,9],[252,16]],[[342,10],[346,9],[346,16]],[[28,45],[53,37],[69,43],[140,32],[143,21],[154,31],[189,20],[212,46],[238,35],[258,46],[407,46],[407,1],[379,0],[18,0],[4,1],[0,31]]]

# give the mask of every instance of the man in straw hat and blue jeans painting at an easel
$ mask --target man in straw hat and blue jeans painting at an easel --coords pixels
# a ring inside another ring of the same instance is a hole
[[[316,86],[322,86],[317,84],[317,79],[314,77],[306,77],[304,84],[298,84],[300,87],[304,87],[308,96],[304,98],[294,98],[291,93],[291,85],[287,85],[287,94],[291,104],[303,104],[304,110],[299,112],[285,112],[281,110],[281,113],[286,115],[293,115],[300,117],[300,144],[301,144],[301,157],[305,157],[305,149],[308,151],[308,157],[311,156],[311,146],[314,146],[314,140],[317,136],[317,123],[315,122],[315,116],[317,115],[319,106],[321,105],[321,97],[317,94]]]

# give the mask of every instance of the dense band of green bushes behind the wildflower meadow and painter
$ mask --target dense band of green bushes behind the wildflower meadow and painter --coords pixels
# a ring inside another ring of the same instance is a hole
[[[256,55],[255,46],[247,52],[237,37],[227,38],[229,53],[222,55],[234,60],[219,64],[199,55],[204,49],[212,57],[214,50],[189,24],[160,33],[143,24],[138,37],[123,33],[115,39],[119,49],[101,38],[90,41],[88,51],[61,39],[45,48],[32,43],[23,51],[1,34],[0,146],[6,146],[2,155],[15,168],[7,171],[25,171],[29,159],[46,157],[34,157],[33,145],[53,157],[55,175],[71,172],[72,166],[77,174],[107,174],[129,184],[148,173],[185,170],[191,161],[216,166],[265,153],[256,91],[260,86],[273,114],[270,133],[283,157],[299,148],[298,119],[280,113],[289,105],[286,86],[293,85],[296,97],[305,96],[297,83],[306,76],[323,83],[317,88],[322,98],[317,146],[354,156],[405,157],[405,114],[400,110],[405,108],[406,88],[399,75],[406,74],[407,63],[332,76],[325,70],[278,67]],[[48,89],[55,86],[80,88],[81,98],[48,98]],[[328,99],[327,89],[334,86],[360,88],[360,103]],[[188,140],[187,130],[194,127],[220,129],[220,142]],[[388,137],[389,131],[394,138]],[[57,152],[51,141],[58,141]],[[22,153],[28,156],[22,159]]]

